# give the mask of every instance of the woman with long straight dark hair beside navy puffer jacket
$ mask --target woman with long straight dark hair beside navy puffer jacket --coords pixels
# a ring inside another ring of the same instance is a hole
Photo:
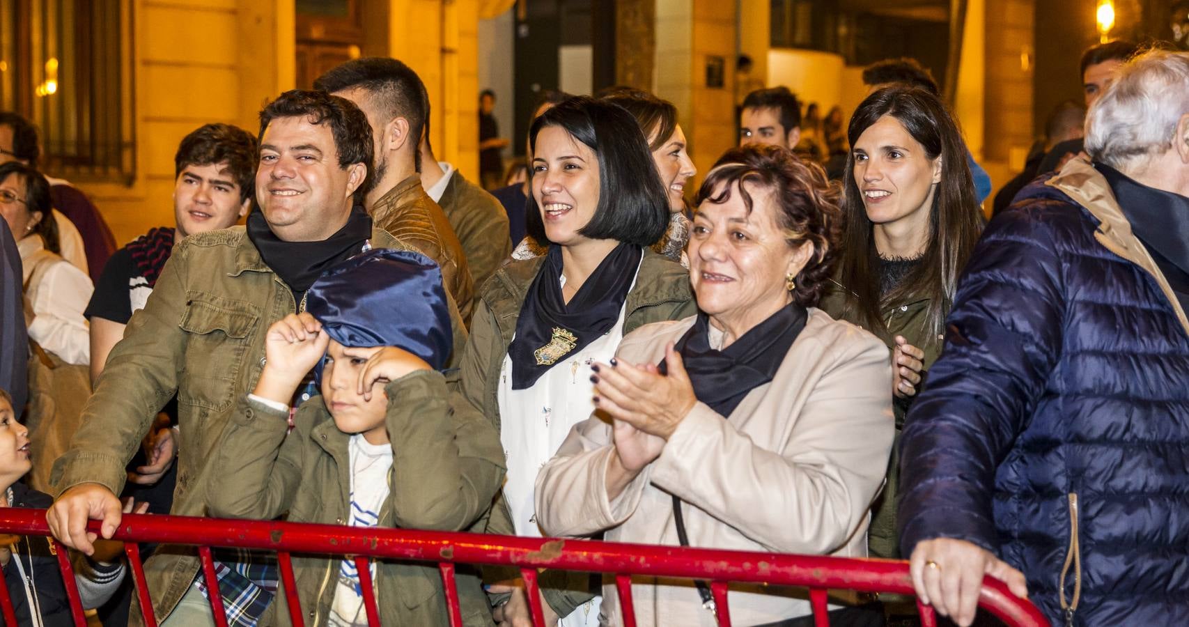
[[[847,231],[822,308],[892,350],[897,430],[942,350],[958,275],[982,232],[967,150],[942,101],[919,87],[879,89],[850,118]],[[872,554],[899,558],[897,447],[875,504]]]

